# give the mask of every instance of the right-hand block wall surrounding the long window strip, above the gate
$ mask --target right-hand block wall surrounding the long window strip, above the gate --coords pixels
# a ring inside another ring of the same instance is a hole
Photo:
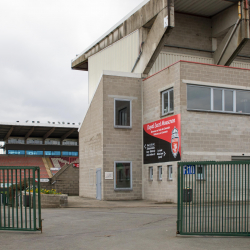
[[[250,70],[181,62],[182,160],[231,160],[250,155],[250,116],[187,111],[187,84],[250,90]]]

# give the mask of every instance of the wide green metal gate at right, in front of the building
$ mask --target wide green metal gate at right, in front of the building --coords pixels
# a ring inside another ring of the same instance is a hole
[[[250,161],[178,163],[177,233],[250,236]]]

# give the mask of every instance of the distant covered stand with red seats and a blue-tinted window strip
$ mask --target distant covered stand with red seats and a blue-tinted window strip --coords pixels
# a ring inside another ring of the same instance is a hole
[[[40,179],[43,179],[41,183],[48,183],[65,164],[79,162],[78,127],[75,123],[0,122],[0,166],[38,166]],[[53,168],[58,170],[51,170]],[[0,171],[0,186],[3,181],[6,184],[6,178],[10,176],[19,182],[20,175],[23,180],[24,175],[27,178],[30,174],[32,171]]]

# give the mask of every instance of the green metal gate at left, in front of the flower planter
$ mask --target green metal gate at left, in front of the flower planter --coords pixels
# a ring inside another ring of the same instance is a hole
[[[39,167],[0,167],[0,230],[42,231]]]

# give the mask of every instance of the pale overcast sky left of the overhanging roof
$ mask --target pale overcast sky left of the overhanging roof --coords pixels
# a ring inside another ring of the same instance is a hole
[[[143,0],[1,0],[0,121],[82,122],[88,73],[71,60]]]

